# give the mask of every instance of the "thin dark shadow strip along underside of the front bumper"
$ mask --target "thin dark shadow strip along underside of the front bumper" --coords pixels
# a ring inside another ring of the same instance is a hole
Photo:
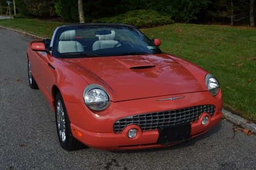
[[[207,138],[211,135],[214,135],[219,132],[219,130],[222,127],[222,122],[220,122],[215,128],[210,129],[208,132],[197,136],[193,139],[186,140],[181,143],[177,143],[173,146],[170,147],[164,147],[164,148],[152,148],[152,149],[138,149],[138,150],[122,150],[122,151],[110,151],[116,154],[123,154],[123,153],[143,153],[143,152],[155,152],[155,151],[163,151],[163,150],[176,150],[180,148],[185,148],[185,147],[191,147],[194,145],[196,142],[203,140],[204,138]]]

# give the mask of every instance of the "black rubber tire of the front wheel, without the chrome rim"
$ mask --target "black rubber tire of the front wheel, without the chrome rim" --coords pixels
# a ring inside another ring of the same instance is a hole
[[[66,139],[64,141],[61,139],[61,135],[60,135],[60,131],[59,131],[60,128],[59,128],[59,124],[58,124],[58,120],[57,120],[57,116],[59,115],[58,110],[57,110],[58,102],[61,102],[61,105],[63,108],[63,115],[65,117],[64,124],[65,124]],[[78,141],[76,138],[74,138],[74,136],[71,133],[68,112],[67,112],[65,103],[63,102],[63,99],[62,99],[62,96],[60,93],[57,93],[56,98],[55,98],[55,110],[56,110],[55,123],[56,123],[56,129],[57,129],[57,134],[58,134],[58,138],[59,138],[59,143],[60,143],[61,147],[67,151],[73,151],[73,150],[85,148],[85,145],[83,143],[81,143],[80,141]]]

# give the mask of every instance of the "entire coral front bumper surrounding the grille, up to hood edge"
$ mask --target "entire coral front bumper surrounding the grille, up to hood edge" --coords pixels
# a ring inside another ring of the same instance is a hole
[[[147,149],[157,147],[168,147],[167,144],[157,144],[159,137],[158,130],[141,131],[137,125],[129,125],[121,133],[114,133],[113,125],[116,120],[130,116],[159,110],[172,110],[177,108],[211,104],[216,107],[215,114],[209,116],[209,123],[205,126],[201,124],[201,119],[207,113],[203,113],[197,122],[191,123],[190,138],[196,137],[209,129],[215,127],[222,118],[221,92],[217,96],[212,96],[209,92],[196,92],[182,94],[184,99],[177,101],[156,102],[159,98],[148,98],[125,102],[112,102],[111,106],[103,112],[92,112],[84,104],[75,104],[65,101],[66,108],[71,120],[71,130],[75,138],[89,147],[101,150],[131,150]],[[175,97],[175,95],[174,95]],[[162,97],[164,98],[164,97]],[[193,102],[191,102],[193,101]],[[143,111],[143,112],[142,112]],[[139,130],[138,137],[130,139],[127,131],[131,128]],[[74,133],[74,130],[81,132],[82,137]]]

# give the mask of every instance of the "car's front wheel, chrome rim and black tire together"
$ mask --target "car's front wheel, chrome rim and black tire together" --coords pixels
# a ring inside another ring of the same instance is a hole
[[[84,144],[72,135],[69,116],[60,93],[56,95],[55,110],[56,128],[61,147],[68,151],[83,148]]]

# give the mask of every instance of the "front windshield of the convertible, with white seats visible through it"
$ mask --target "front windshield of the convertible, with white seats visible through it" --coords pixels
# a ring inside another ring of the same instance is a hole
[[[144,34],[124,25],[65,26],[54,38],[53,55],[61,58],[162,53]]]

